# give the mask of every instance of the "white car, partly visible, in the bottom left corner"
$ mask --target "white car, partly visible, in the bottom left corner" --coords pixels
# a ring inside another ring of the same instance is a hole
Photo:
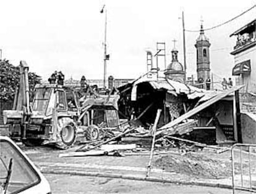
[[[0,194],[12,193],[50,194],[51,188],[22,150],[0,135]]]

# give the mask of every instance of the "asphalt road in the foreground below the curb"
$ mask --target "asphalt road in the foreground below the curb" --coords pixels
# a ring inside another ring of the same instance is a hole
[[[103,177],[45,174],[55,194],[65,193],[168,193],[168,194],[231,194],[224,188],[161,184],[147,181]],[[239,192],[241,193],[241,192]],[[244,193],[244,192],[242,192]]]

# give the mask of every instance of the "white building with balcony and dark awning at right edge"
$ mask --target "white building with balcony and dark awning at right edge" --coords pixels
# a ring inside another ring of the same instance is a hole
[[[256,20],[248,23],[230,36],[236,36],[233,76],[236,84],[245,85],[242,92],[256,93]]]

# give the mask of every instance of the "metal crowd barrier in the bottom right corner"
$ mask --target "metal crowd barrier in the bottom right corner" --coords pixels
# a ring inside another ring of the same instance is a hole
[[[236,190],[256,193],[256,154],[252,148],[256,149],[256,144],[236,143],[231,148],[233,194]]]

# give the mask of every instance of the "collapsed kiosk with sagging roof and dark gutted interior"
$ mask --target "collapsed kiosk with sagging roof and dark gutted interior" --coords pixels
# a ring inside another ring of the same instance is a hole
[[[206,91],[149,71],[119,87],[119,111],[127,118],[139,118],[137,125],[147,128],[161,109],[158,129],[172,128],[172,134],[208,144],[241,142],[241,87]]]

